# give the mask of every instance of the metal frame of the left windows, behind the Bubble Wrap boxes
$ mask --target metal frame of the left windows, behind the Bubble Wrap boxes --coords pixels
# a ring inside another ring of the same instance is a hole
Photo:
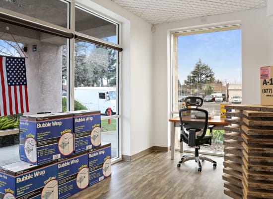
[[[64,0],[61,0],[64,1]],[[0,8],[0,21],[3,22],[8,22],[11,24],[15,24],[17,26],[23,26],[26,28],[34,29],[40,32],[46,32],[50,34],[54,34],[57,36],[62,36],[67,39],[67,48],[68,48],[68,56],[67,56],[67,63],[68,63],[68,68],[67,68],[67,108],[68,110],[73,110],[74,107],[74,46],[75,46],[75,35],[77,34],[78,39],[80,38],[81,40],[85,41],[88,40],[89,42],[92,41],[94,44],[99,44],[102,46],[106,46],[108,48],[112,48],[115,50],[118,50],[117,54],[117,69],[116,69],[116,74],[117,74],[117,114],[116,115],[111,115],[111,116],[105,116],[102,117],[101,119],[111,119],[111,118],[116,118],[117,119],[117,133],[118,133],[118,151],[119,155],[118,158],[116,158],[114,161],[112,160],[112,163],[115,163],[119,160],[122,159],[121,156],[121,115],[120,115],[120,107],[121,107],[121,100],[120,100],[120,86],[121,86],[121,45],[120,45],[120,32],[121,32],[121,23],[118,23],[112,19],[109,19],[102,14],[96,14],[93,12],[93,10],[85,8],[83,5],[78,5],[75,4],[75,1],[66,1],[68,2],[68,27],[64,28],[55,24],[48,23],[46,21],[42,21],[39,19],[32,18],[30,16],[14,12],[8,9]],[[88,35],[84,35],[82,33],[75,32],[75,6],[81,7],[84,10],[88,10],[97,16],[109,20],[111,22],[114,22],[117,24],[117,44],[108,42],[102,39],[94,38]],[[88,42],[87,41],[87,42]],[[60,84],[62,84],[62,79],[60,80]],[[11,135],[11,134],[18,134],[19,129],[8,129],[8,130],[2,130],[1,131],[1,136],[4,135]]]

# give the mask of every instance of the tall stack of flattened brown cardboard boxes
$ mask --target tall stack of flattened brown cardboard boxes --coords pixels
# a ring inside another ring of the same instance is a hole
[[[224,194],[233,199],[273,199],[273,106],[226,105]]]

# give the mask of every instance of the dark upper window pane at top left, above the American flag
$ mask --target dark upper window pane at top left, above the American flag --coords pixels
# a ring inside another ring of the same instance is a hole
[[[65,0],[1,0],[0,7],[68,28],[68,2]]]

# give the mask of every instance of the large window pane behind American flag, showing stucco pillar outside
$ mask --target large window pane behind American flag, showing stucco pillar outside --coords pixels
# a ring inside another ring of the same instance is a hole
[[[5,147],[19,143],[15,128],[19,127],[20,115],[62,110],[62,46],[67,39],[4,22],[0,27],[9,28],[9,32],[1,33],[0,56],[27,57],[29,112],[0,116],[0,131],[5,135],[0,136],[0,147]]]

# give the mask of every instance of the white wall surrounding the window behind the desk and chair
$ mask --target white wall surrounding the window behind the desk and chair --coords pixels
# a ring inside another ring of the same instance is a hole
[[[273,65],[273,21],[267,9],[233,12],[215,16],[181,20],[156,25],[153,41],[154,69],[154,143],[170,145],[171,117],[170,84],[170,32],[179,29],[194,30],[201,27],[218,27],[223,24],[241,23],[242,32],[242,98],[243,103],[260,103],[259,73],[261,66]]]

